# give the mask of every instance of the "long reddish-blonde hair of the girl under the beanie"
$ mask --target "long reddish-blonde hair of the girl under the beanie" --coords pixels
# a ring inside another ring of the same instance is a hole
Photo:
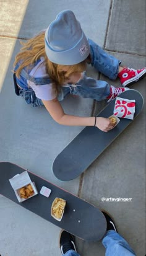
[[[64,84],[66,79],[71,76],[72,73],[82,73],[86,69],[86,60],[71,66],[55,64],[49,61],[45,53],[45,31],[41,32],[30,40],[27,40],[27,42],[20,43],[23,45],[23,47],[15,56],[14,67],[17,63],[19,63],[19,61],[21,61],[21,64],[15,71],[15,75],[20,78],[20,72],[23,68],[31,68],[31,65],[33,65],[35,61],[43,57],[45,59],[46,71],[49,75],[49,78],[53,82],[53,90],[56,95],[59,94],[61,86]],[[67,71],[62,71],[62,69],[66,67]]]

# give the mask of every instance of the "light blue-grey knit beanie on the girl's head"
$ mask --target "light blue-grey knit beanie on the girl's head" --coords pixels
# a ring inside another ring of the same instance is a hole
[[[56,64],[74,65],[87,58],[90,46],[74,12],[59,12],[51,22],[45,32],[45,51]]]

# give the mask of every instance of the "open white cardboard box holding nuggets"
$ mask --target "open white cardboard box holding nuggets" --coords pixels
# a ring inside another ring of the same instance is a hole
[[[17,196],[19,203],[22,203],[23,201],[38,194],[37,188],[35,186],[35,182],[32,182],[27,171],[22,172],[22,174],[15,175],[14,177],[12,177],[12,179],[9,179],[9,182],[11,183],[11,186],[14,189],[15,195]],[[29,196],[27,199],[20,198],[19,189],[27,186],[28,184],[30,184],[32,186],[34,194],[32,196]]]

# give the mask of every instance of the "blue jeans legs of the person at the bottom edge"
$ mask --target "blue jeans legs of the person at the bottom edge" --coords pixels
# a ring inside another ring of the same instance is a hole
[[[109,230],[103,238],[102,244],[106,249],[106,256],[135,256],[126,240],[117,232]],[[98,252],[97,252],[98,255]],[[69,250],[64,256],[80,256],[74,250]]]

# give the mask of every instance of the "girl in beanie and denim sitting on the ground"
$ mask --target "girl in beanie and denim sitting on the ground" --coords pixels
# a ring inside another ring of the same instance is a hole
[[[120,66],[121,61],[103,51],[85,37],[74,12],[60,12],[48,29],[22,43],[15,57],[15,92],[27,104],[44,105],[51,117],[61,125],[97,126],[101,131],[113,128],[103,117],[79,117],[64,113],[59,101],[67,95],[79,95],[108,102],[145,76],[146,68],[131,69]],[[119,77],[123,87],[114,87],[106,81],[85,76],[87,64],[108,76]]]

